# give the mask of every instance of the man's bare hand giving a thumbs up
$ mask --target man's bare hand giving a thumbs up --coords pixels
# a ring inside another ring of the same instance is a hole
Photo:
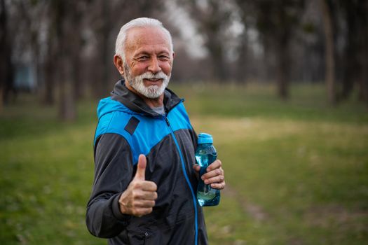
[[[146,181],[145,172],[146,156],[139,155],[135,177],[118,200],[122,214],[141,217],[152,212],[157,186],[153,181]]]

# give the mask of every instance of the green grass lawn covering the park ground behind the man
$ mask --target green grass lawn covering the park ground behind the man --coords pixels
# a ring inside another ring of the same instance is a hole
[[[367,244],[368,111],[323,87],[173,86],[209,132],[227,187],[205,208],[210,244]],[[0,116],[0,244],[107,244],[86,229],[96,102],[76,123],[22,96]]]

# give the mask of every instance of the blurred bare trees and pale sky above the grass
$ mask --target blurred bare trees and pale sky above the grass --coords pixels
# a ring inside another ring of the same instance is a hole
[[[325,83],[338,104],[353,90],[368,104],[368,3],[364,0],[1,0],[0,110],[29,90],[76,118],[76,102],[103,97],[118,79],[119,29],[158,18],[175,43],[172,80]]]

